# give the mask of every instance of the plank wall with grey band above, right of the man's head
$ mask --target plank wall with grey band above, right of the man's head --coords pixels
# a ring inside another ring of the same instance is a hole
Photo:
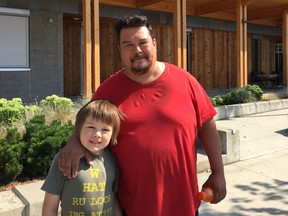
[[[188,17],[191,29],[190,72],[205,89],[236,88],[237,36],[236,24],[231,21]],[[252,38],[261,39],[261,71],[275,71],[275,43],[281,42],[281,29],[248,24],[248,83],[252,84]]]

